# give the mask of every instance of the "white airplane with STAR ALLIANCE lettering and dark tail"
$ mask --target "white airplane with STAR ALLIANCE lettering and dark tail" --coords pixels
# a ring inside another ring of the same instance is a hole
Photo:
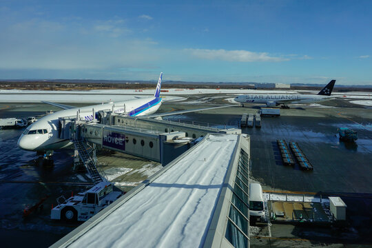
[[[334,99],[331,97],[335,80],[331,80],[318,94],[246,94],[237,96],[234,100],[238,103],[265,103],[267,107],[296,103],[316,103]]]

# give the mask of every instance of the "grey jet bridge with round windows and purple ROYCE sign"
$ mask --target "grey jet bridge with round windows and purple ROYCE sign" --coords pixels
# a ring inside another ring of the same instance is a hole
[[[83,138],[106,149],[167,165],[194,145],[195,138],[209,133],[241,134],[239,129],[192,125],[145,117],[100,113],[100,122],[78,121],[65,125],[70,136]]]

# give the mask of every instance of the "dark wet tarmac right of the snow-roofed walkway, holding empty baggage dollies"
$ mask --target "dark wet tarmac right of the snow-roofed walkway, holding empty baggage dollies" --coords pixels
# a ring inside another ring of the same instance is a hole
[[[251,179],[264,190],[341,196],[348,206],[350,227],[271,224],[268,231],[269,225],[258,224],[253,227],[258,231],[251,236],[251,247],[372,246],[372,110],[339,100],[326,104],[293,105],[280,110],[280,117],[262,117],[260,128],[243,127],[242,132],[251,136]],[[180,118],[234,127],[243,112],[254,114],[257,110],[258,106],[229,107]],[[177,116],[169,118],[177,120]],[[338,127],[357,131],[358,141],[339,141]],[[283,165],[277,139],[296,141],[313,171]]]

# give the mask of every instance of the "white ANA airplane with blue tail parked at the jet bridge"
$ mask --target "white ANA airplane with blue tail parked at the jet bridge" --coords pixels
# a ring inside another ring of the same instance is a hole
[[[49,103],[64,110],[48,114],[28,126],[21,134],[18,140],[18,146],[21,149],[35,152],[54,151],[72,145],[69,139],[59,138],[59,118],[76,116],[86,121],[92,121],[93,111],[97,116],[101,110],[112,111],[114,113],[127,113],[130,116],[143,116],[152,114],[161,106],[161,81],[163,72],[161,72],[156,85],[155,94],[153,97],[134,99],[129,101],[121,101],[116,103],[105,103],[101,105],[91,105],[87,107],[72,107],[59,103]]]

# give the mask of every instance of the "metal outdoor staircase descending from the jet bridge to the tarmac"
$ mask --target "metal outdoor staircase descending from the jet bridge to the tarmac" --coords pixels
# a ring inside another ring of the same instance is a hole
[[[87,168],[87,172],[89,172],[90,176],[92,177],[94,184],[106,181],[106,179],[101,176],[99,170],[96,167],[96,159],[93,159],[87,152],[84,142],[74,140],[74,145],[75,149],[79,152],[81,161],[83,161],[85,168]]]

